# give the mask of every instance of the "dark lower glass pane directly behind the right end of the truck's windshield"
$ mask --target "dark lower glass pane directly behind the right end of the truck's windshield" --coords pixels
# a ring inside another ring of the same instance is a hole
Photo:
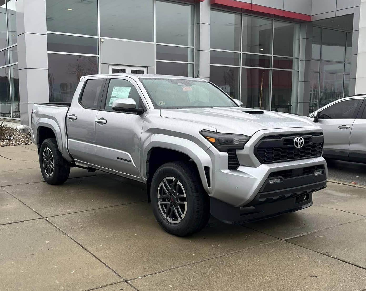
[[[210,66],[210,81],[234,99],[239,99],[239,70],[236,67]]]

